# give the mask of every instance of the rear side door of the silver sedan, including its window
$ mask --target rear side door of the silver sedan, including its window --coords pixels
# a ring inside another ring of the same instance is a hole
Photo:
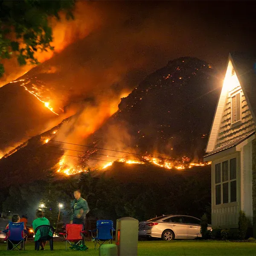
[[[183,223],[182,216],[172,216],[165,220],[168,223],[168,228],[173,230],[175,233],[175,239],[187,239],[188,238],[188,231],[186,224]],[[166,227],[167,227],[166,226]]]

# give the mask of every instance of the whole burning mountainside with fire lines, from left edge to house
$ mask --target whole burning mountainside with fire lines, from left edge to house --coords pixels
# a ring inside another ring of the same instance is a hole
[[[169,170],[207,165],[201,161],[217,100],[218,79],[205,61],[190,57],[169,61],[121,102],[111,90],[107,92],[109,101],[106,93],[102,102],[99,97],[96,101],[81,93],[76,100],[69,100],[76,92],[64,87],[65,82],[62,90],[68,93],[61,99],[59,86],[54,86],[58,74],[53,71],[38,66],[1,88],[10,90],[15,86],[54,116],[51,122],[37,124],[33,136],[17,136],[18,147],[3,154],[0,169],[4,183],[41,179],[49,170],[66,175],[88,169],[108,170],[113,163],[122,172],[126,164]],[[5,132],[6,145],[10,146],[11,138],[12,134]]]

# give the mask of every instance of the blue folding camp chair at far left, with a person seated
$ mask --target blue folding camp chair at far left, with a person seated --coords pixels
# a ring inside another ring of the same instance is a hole
[[[9,222],[8,229],[3,230],[3,232],[7,233],[7,250],[14,250],[15,248],[25,250],[24,233],[26,233],[26,230],[24,230],[24,222]],[[19,244],[21,245],[20,248],[17,247]],[[12,249],[9,247],[12,247]]]

